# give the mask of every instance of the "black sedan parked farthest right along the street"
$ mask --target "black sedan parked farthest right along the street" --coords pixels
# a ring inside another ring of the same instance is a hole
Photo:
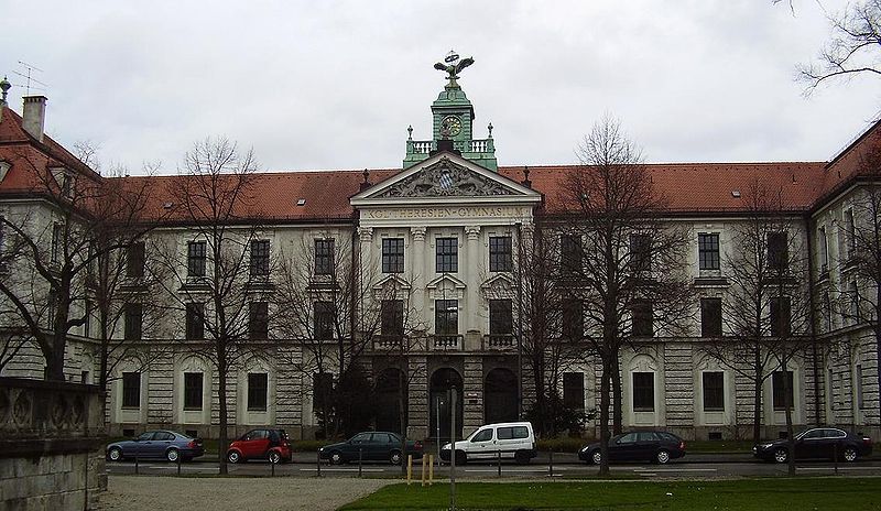
[[[795,459],[835,459],[836,454],[845,461],[856,461],[872,453],[872,439],[853,435],[837,427],[812,427],[794,437]],[[786,438],[763,442],[752,447],[752,454],[765,461],[786,463],[790,457]]]

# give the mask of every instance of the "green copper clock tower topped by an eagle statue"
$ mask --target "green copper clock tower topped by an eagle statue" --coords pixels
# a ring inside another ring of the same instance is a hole
[[[444,63],[438,62],[434,65],[436,69],[448,74],[448,81],[432,104],[432,140],[413,140],[413,129],[407,129],[410,135],[406,141],[404,168],[425,160],[438,149],[452,148],[478,165],[491,171],[498,170],[492,124],[487,127],[489,134],[486,139],[475,140],[475,108],[457,81],[458,73],[472,63],[472,58],[460,59],[455,52],[449,52]]]

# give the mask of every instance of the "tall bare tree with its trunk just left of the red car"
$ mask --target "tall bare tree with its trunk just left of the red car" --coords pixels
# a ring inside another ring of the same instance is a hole
[[[206,139],[185,154],[182,171],[170,182],[167,194],[173,199],[172,219],[187,226],[191,240],[185,253],[176,231],[164,242],[156,240],[159,262],[170,275],[163,284],[168,306],[187,318],[193,351],[217,370],[219,463],[220,474],[227,474],[222,454],[228,447],[228,379],[243,357],[264,347],[248,335],[250,305],[261,296],[259,289],[249,286],[254,274],[249,271],[254,261],[251,243],[260,241],[260,225],[251,210],[257,162],[252,151],[240,152],[227,139]],[[264,270],[260,268],[259,274]]]

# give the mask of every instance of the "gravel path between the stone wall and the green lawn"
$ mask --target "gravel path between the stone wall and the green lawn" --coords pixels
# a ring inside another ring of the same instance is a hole
[[[110,476],[100,510],[333,511],[398,482],[354,478]]]

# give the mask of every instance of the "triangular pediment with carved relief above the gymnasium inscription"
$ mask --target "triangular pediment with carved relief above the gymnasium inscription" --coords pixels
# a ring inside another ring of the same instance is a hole
[[[537,203],[541,194],[457,154],[443,152],[361,192],[351,198],[351,204],[368,206],[401,199]]]

